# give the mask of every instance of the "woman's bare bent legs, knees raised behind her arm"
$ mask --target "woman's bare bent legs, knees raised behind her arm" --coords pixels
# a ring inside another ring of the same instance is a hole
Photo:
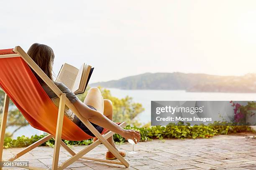
[[[97,87],[92,87],[88,91],[84,104],[94,107],[97,111],[104,114],[108,119],[113,120],[113,105],[110,100],[104,100],[100,90]],[[107,140],[110,145],[112,145],[116,150],[115,142],[113,136]]]

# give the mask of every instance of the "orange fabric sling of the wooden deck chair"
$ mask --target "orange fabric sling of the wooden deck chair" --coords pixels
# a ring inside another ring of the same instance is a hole
[[[0,55],[13,53],[15,52],[12,49],[0,50]],[[0,58],[0,87],[31,126],[55,135],[58,108],[21,57]],[[102,134],[106,131],[107,129],[104,128]],[[64,140],[86,140],[92,137],[64,116],[61,138]]]

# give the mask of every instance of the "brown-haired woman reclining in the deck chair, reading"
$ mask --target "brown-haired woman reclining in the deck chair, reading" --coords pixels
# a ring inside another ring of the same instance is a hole
[[[28,55],[36,62],[36,64],[46,73],[46,75],[53,81],[52,77],[52,67],[54,63],[54,52],[51,47],[35,43],[31,45],[28,50]],[[32,70],[33,71],[33,70]],[[47,95],[51,98],[54,104],[58,107],[59,97],[44,83],[44,81],[33,72]],[[106,128],[114,133],[118,133],[125,139],[132,139],[137,143],[141,139],[141,135],[136,130],[125,130],[114,123],[113,120],[113,105],[110,100],[103,99],[101,92],[98,88],[92,87],[87,93],[87,96],[84,99],[84,102],[81,102],[74,93],[69,90],[61,82],[54,82],[54,84],[59,87],[59,89],[66,93],[67,98],[74,104],[74,107],[79,111],[79,113],[89,120],[92,125],[102,133],[103,128]],[[90,130],[82,123],[81,120],[70,110],[68,107],[65,107],[64,115],[72,120],[79,128],[81,128],[88,135],[95,137],[95,135],[90,132]],[[94,138],[94,141],[97,138]],[[108,138],[108,142],[116,149],[113,136]],[[125,152],[118,151],[120,155],[125,156]],[[113,160],[115,156],[111,152],[107,152],[106,159]]]

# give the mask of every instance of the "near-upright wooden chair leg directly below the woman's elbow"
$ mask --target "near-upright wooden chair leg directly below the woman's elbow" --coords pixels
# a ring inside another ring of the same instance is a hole
[[[59,101],[59,112],[58,112],[58,120],[57,120],[56,134],[55,134],[54,158],[52,163],[52,170],[58,169],[59,150],[60,150],[60,144],[61,144],[61,132],[62,132],[63,119],[64,119],[65,96],[66,96],[65,93],[61,94],[60,101]]]

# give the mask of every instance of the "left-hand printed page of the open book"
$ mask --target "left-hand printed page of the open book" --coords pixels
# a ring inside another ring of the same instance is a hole
[[[61,67],[58,77],[56,78],[57,82],[62,82],[66,85],[70,90],[72,90],[74,82],[77,78],[78,69],[72,65],[64,63]]]

